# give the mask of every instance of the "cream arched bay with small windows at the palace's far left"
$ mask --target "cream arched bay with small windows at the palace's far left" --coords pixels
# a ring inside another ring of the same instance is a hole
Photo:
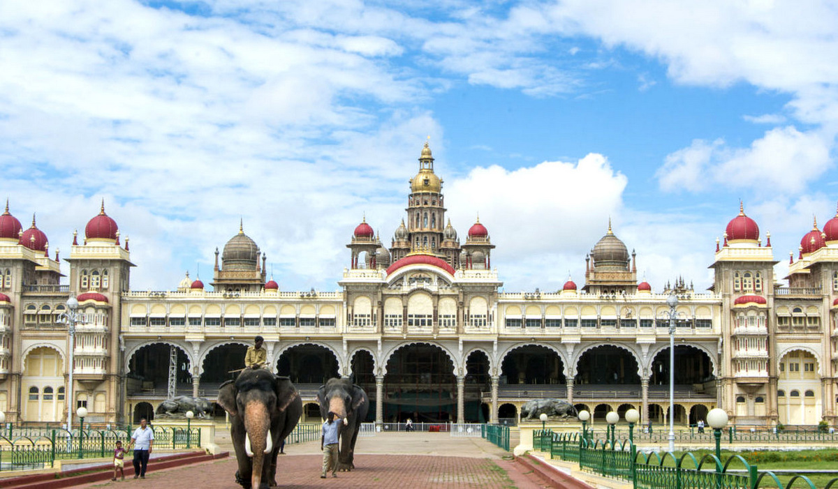
[[[55,422],[66,419],[64,370],[64,358],[53,347],[37,347],[28,353],[21,379],[25,396],[23,420]]]

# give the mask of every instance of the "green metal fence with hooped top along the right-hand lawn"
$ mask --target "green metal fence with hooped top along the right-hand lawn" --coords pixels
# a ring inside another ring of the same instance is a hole
[[[724,463],[713,455],[698,460],[691,452],[680,458],[670,452],[659,456],[655,452],[638,452],[629,440],[611,445],[610,440],[592,441],[577,433],[559,434],[551,430],[535,430],[532,442],[535,450],[549,453],[552,458],[577,462],[582,471],[629,481],[639,489],[817,489],[802,475],[791,476],[783,485],[772,471],[758,471],[757,466],[738,455]],[[832,487],[838,488],[838,478],[829,481],[825,489]]]

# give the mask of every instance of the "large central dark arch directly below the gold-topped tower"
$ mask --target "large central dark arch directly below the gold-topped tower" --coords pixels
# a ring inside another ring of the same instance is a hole
[[[457,383],[451,358],[441,347],[414,343],[387,360],[384,420],[447,422],[457,415]]]

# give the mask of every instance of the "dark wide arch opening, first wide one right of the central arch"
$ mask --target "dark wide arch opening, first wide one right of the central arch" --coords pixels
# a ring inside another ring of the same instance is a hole
[[[566,383],[559,354],[540,345],[525,345],[507,353],[500,365],[500,374],[507,384]]]

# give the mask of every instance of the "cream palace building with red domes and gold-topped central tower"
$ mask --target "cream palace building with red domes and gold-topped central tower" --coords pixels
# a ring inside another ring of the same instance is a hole
[[[153,417],[175,394],[215,400],[261,335],[308,419],[319,417],[314,394],[326,378],[352,376],[374,403],[370,421],[497,422],[529,399],[558,397],[594,420],[634,407],[643,422],[662,423],[675,368],[679,424],[715,407],[740,425],[838,421],[838,215],[804,235],[787,277],[774,275],[770,235],[763,242],[740,207],[708,250],[708,291],[683,278],[658,291],[638,282],[634,251],[608,223],[580,257],[581,287],[568,279],[559,291],[503,292],[487,226],[477,219],[460,238],[433,162],[426,143],[389,246],[366,219],[354,229],[333,292],[268,280],[266,254],[241,226],[215,250],[209,286],[187,274],[161,291],[132,291],[128,239],[104,203],[84,236],[74,234],[63,273],[35,219],[23,229],[7,204],[0,409],[13,422],[61,422],[71,399],[92,422],[122,423]],[[70,296],[79,302],[72,345]]]

